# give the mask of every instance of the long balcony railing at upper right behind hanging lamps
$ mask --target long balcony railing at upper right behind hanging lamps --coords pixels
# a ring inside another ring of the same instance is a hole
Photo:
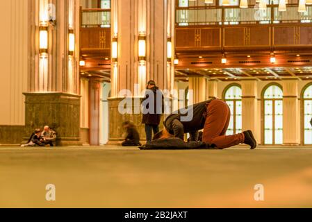
[[[277,5],[268,6],[267,10],[239,8],[238,6],[212,6],[177,8],[177,26],[220,26],[239,24],[284,24],[312,23],[312,7],[306,12],[297,12],[297,5],[288,6],[286,12],[279,12]]]

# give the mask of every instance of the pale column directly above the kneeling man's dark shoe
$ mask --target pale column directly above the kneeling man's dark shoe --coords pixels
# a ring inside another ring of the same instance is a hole
[[[261,132],[257,127],[258,118],[258,80],[242,80],[242,117],[243,117],[243,131],[252,130],[257,142],[261,142]]]

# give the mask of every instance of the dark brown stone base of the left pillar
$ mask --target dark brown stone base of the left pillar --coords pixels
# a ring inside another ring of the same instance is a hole
[[[58,135],[57,146],[81,146],[80,97],[59,92],[24,93],[26,137],[35,128],[50,126]]]

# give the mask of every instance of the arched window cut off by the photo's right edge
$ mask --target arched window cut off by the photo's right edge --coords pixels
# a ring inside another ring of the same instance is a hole
[[[303,104],[304,104],[304,145],[312,144],[312,85],[307,87],[303,93]]]

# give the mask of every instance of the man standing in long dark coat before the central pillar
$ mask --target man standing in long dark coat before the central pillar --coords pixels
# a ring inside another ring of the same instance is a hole
[[[154,80],[147,83],[147,92],[142,101],[143,119],[145,124],[145,133],[147,143],[151,142],[151,138],[159,132],[159,124],[161,123],[161,113],[163,111],[163,94],[156,86]]]

